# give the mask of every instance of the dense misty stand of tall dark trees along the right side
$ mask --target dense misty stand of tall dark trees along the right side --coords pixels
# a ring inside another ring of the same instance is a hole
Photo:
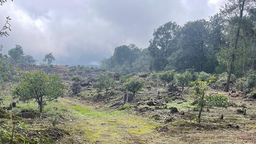
[[[122,72],[185,70],[228,72],[244,76],[255,70],[255,0],[231,0],[209,20],[169,21],[153,31],[145,49],[135,44],[115,48],[100,67]]]

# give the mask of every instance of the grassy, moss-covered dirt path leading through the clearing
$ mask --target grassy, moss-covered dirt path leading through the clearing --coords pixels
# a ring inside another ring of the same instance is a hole
[[[66,124],[71,133],[82,143],[131,143],[131,144],[169,144],[176,143],[160,135],[155,128],[161,126],[152,119],[129,114],[124,111],[107,110],[86,105],[83,101],[60,99],[78,116],[78,120]],[[72,120],[71,120],[72,121]]]

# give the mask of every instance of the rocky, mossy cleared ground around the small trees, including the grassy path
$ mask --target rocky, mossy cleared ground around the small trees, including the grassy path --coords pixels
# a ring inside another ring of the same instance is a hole
[[[19,120],[28,125],[27,129],[17,129],[16,143],[256,143],[256,104],[254,99],[243,98],[244,92],[219,90],[228,96],[230,107],[203,111],[202,123],[198,124],[198,111],[189,98],[189,88],[183,92],[175,88],[168,91],[159,82],[149,86],[148,74],[135,74],[144,78],[146,87],[135,95],[132,103],[111,107],[126,92],[118,85],[105,96],[105,92],[92,88],[93,81],[105,71],[62,66],[41,69],[59,73],[69,85],[68,95],[46,103],[42,115],[33,100],[19,102],[7,113],[0,112],[2,123]],[[76,84],[76,94],[72,91],[72,75],[84,78]],[[115,74],[117,83],[121,75]],[[212,86],[209,92],[217,93],[217,89]],[[15,101],[9,91],[1,97],[6,107]]]

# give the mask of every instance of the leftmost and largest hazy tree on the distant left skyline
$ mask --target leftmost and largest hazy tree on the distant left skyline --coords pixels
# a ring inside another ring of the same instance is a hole
[[[22,46],[16,44],[14,48],[8,51],[8,54],[15,62],[24,62],[24,52]]]

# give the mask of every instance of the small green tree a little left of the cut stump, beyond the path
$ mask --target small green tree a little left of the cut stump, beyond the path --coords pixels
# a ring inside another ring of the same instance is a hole
[[[108,91],[114,88],[115,85],[116,81],[109,75],[100,75],[97,79],[97,82],[94,83],[92,86],[100,90],[105,90],[106,96],[108,96]]]

